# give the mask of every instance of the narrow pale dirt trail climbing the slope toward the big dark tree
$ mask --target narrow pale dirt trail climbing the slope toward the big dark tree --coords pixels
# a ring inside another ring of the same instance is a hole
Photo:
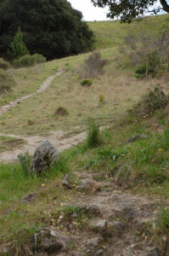
[[[4,105],[1,109],[0,109],[0,116],[3,115],[3,113],[5,113],[6,111],[8,111],[9,108],[14,108],[19,102],[24,102],[25,100],[29,99],[31,96],[35,96],[38,93],[42,93],[45,90],[48,89],[48,86],[52,83],[52,81],[58,77],[60,74],[62,74],[64,72],[64,68],[59,69],[59,71],[57,73],[55,73],[53,76],[48,77],[48,79],[46,79],[43,84],[41,85],[41,87],[36,91],[33,92],[29,95],[26,96],[22,96],[12,102],[9,102],[7,105]]]

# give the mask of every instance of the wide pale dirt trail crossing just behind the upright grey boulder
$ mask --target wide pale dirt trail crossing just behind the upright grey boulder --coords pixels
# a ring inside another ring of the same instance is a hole
[[[29,151],[30,154],[33,154],[35,151],[35,148],[45,140],[49,140],[51,143],[54,144],[55,148],[59,150],[59,152],[64,151],[65,149],[71,148],[72,146],[77,145],[78,143],[82,143],[82,141],[85,140],[87,137],[86,132],[82,132],[77,134],[74,137],[70,138],[64,138],[67,136],[67,133],[65,131],[51,131],[50,134],[47,137],[40,137],[40,136],[33,136],[33,137],[24,137],[14,134],[2,134],[0,133],[0,136],[4,137],[14,137],[18,139],[24,139],[25,144],[20,145],[20,148],[15,148],[11,151],[4,151],[0,154],[0,162],[8,163],[13,162],[17,160],[18,154],[23,154],[26,151]]]

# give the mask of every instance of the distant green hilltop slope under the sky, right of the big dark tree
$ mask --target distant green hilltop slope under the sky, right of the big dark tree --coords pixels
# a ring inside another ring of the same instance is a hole
[[[128,33],[138,34],[148,32],[158,34],[164,26],[168,26],[169,15],[146,17],[142,21],[133,21],[131,24],[121,24],[120,21],[88,22],[96,37],[96,49],[119,46]]]

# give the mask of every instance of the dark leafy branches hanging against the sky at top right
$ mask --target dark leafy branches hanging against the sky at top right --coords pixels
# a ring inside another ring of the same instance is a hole
[[[122,22],[131,22],[132,19],[143,16],[146,12],[158,14],[161,10],[169,13],[167,0],[91,0],[95,6],[109,7],[108,17],[121,17]]]

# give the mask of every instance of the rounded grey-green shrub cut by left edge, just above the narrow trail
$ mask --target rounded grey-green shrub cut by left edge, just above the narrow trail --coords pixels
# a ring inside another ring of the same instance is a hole
[[[8,93],[14,85],[14,79],[6,71],[0,69],[0,94]]]

